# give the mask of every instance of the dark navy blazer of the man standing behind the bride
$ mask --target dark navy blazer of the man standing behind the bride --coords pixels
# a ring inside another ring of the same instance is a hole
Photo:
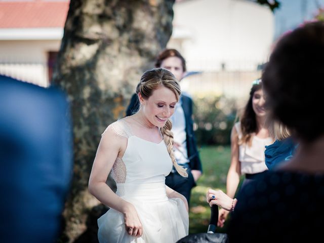
[[[182,109],[186,120],[186,141],[187,151],[189,158],[189,166],[191,170],[198,170],[202,172],[201,161],[197,149],[197,143],[193,132],[193,120],[192,120],[192,99],[186,95],[181,96]],[[134,114],[139,109],[140,102],[137,94],[134,94],[131,98],[130,104],[126,110],[126,116]]]

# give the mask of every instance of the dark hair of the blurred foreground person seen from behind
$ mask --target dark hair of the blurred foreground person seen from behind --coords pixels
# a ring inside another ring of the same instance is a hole
[[[324,133],[324,22],[282,37],[262,74],[267,107],[293,135],[310,142]]]

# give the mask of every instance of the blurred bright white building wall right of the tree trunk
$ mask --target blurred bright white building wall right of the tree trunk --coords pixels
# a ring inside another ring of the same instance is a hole
[[[273,40],[269,8],[243,0],[191,0],[174,5],[169,48],[180,49],[189,71],[256,70]]]

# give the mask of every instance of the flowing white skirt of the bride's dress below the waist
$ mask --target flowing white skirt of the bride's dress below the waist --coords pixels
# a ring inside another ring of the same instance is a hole
[[[124,215],[110,209],[98,219],[100,243],[176,242],[188,235],[189,216],[180,198],[168,198],[164,182],[117,183],[116,194],[133,204],[142,223],[142,236],[127,233]]]

